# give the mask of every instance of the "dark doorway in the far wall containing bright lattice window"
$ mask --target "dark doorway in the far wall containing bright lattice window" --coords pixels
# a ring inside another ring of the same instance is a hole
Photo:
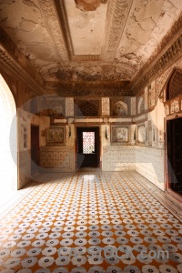
[[[77,167],[99,167],[100,137],[99,127],[76,128]]]

